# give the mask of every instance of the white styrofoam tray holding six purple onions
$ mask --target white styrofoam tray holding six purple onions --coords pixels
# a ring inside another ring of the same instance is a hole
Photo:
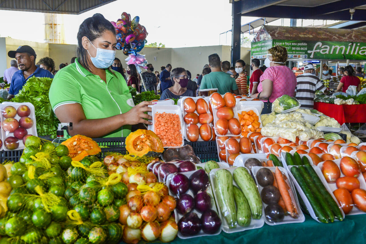
[[[187,176],[187,178],[189,179],[189,177],[194,173],[196,172],[197,170],[195,171],[189,171],[189,172],[183,172],[181,174],[184,174],[185,176]],[[167,187],[169,189],[169,195],[171,196],[174,196],[174,197],[178,197],[176,195],[174,195],[171,191],[170,191],[170,188],[169,188],[169,185],[170,185],[170,181],[172,179],[172,177],[174,176],[174,174],[169,174],[168,177],[167,177]],[[212,193],[212,188],[211,186],[209,185],[206,189],[206,192],[211,196],[211,202],[212,202],[212,210],[216,211],[217,214],[219,214],[219,211],[217,210],[216,208],[216,204],[215,204],[215,199],[214,199],[214,195]],[[189,194],[191,196],[193,196],[194,198],[194,194],[193,194],[193,191],[191,189],[188,189],[188,191],[186,192],[186,194]],[[198,217],[201,219],[201,216],[202,214],[199,213],[197,210],[193,210],[193,213],[196,213],[198,215]],[[176,209],[174,209],[174,215],[175,215],[175,222],[178,223],[179,222],[179,219],[183,217],[182,214],[179,214],[178,211]],[[220,214],[219,214],[220,216]],[[178,237],[180,239],[189,239],[189,238],[193,238],[193,237],[200,237],[200,236],[216,236],[218,234],[220,234],[221,232],[221,229],[222,229],[222,226],[223,226],[223,220],[221,220],[221,228],[219,230],[217,230],[216,233],[214,234],[206,234],[205,232],[203,232],[203,230],[200,230],[198,234],[195,234],[194,236],[183,236],[179,231],[178,231]]]

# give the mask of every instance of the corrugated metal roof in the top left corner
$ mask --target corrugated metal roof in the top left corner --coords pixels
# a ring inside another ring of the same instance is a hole
[[[0,10],[81,14],[116,0],[0,0]]]

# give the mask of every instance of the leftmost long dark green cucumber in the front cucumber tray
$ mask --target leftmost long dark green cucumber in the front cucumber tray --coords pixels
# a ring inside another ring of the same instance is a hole
[[[318,217],[320,222],[328,223],[328,217],[324,214],[319,202],[315,198],[313,192],[310,191],[310,188],[305,183],[300,170],[297,167],[291,167],[291,173],[294,176],[295,180],[299,183],[302,191],[304,192],[306,198],[309,200],[311,207],[313,207],[315,216]]]

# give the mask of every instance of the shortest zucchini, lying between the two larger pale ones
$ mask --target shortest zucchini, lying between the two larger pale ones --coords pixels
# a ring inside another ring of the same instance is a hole
[[[240,226],[249,226],[251,221],[251,212],[248,200],[238,187],[235,185],[233,187],[236,204],[236,221],[238,221],[238,225]]]

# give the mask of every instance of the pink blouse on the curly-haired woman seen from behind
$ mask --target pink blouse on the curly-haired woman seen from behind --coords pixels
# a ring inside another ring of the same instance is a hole
[[[273,82],[273,90],[272,95],[269,97],[269,102],[274,102],[276,98],[279,98],[284,94],[294,97],[296,76],[287,66],[280,65],[266,68],[259,79],[258,92],[263,91],[262,80],[265,79],[272,80]],[[262,101],[267,102],[267,100]]]

